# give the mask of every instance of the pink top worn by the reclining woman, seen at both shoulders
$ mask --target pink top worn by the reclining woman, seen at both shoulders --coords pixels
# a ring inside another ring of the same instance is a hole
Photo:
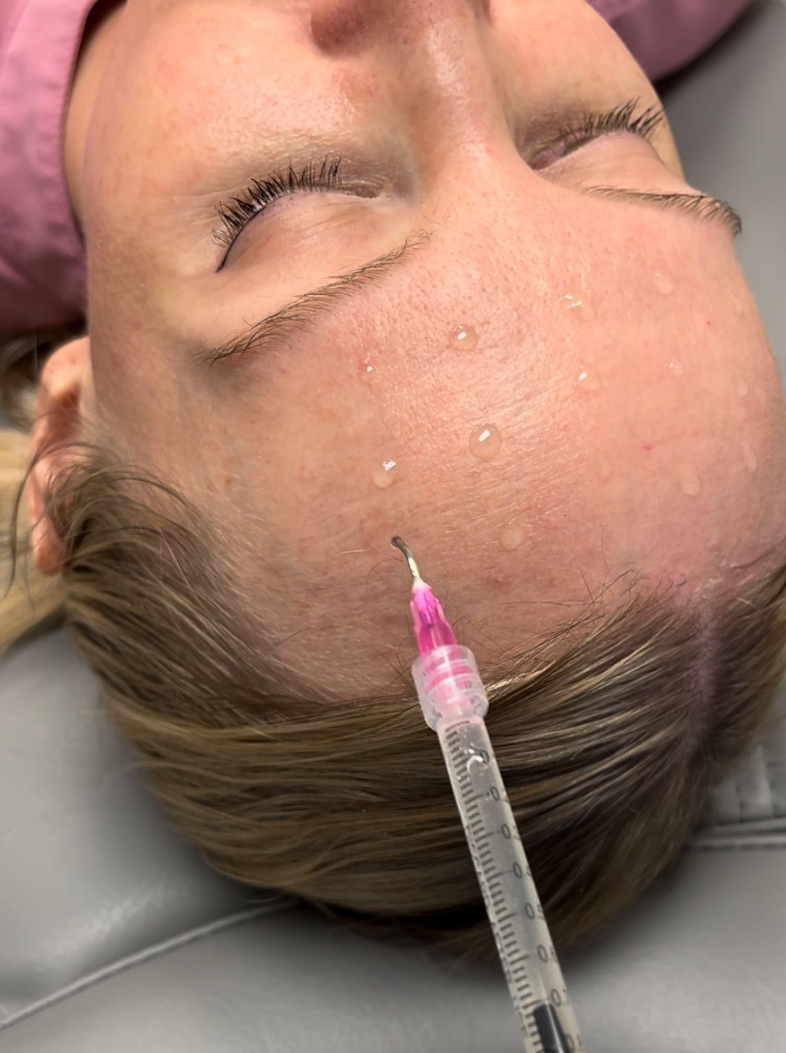
[[[751,0],[588,0],[650,80],[690,62]],[[0,334],[77,321],[85,251],[68,201],[63,118],[96,0],[0,0]]]

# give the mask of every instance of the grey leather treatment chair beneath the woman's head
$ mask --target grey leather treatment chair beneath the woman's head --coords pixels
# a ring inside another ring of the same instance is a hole
[[[662,94],[693,182],[744,217],[784,353],[782,0]],[[498,968],[448,970],[209,870],[65,632],[0,669],[1,1053],[519,1053]],[[668,878],[563,961],[591,1053],[786,1050],[785,760],[786,731],[718,790]]]

